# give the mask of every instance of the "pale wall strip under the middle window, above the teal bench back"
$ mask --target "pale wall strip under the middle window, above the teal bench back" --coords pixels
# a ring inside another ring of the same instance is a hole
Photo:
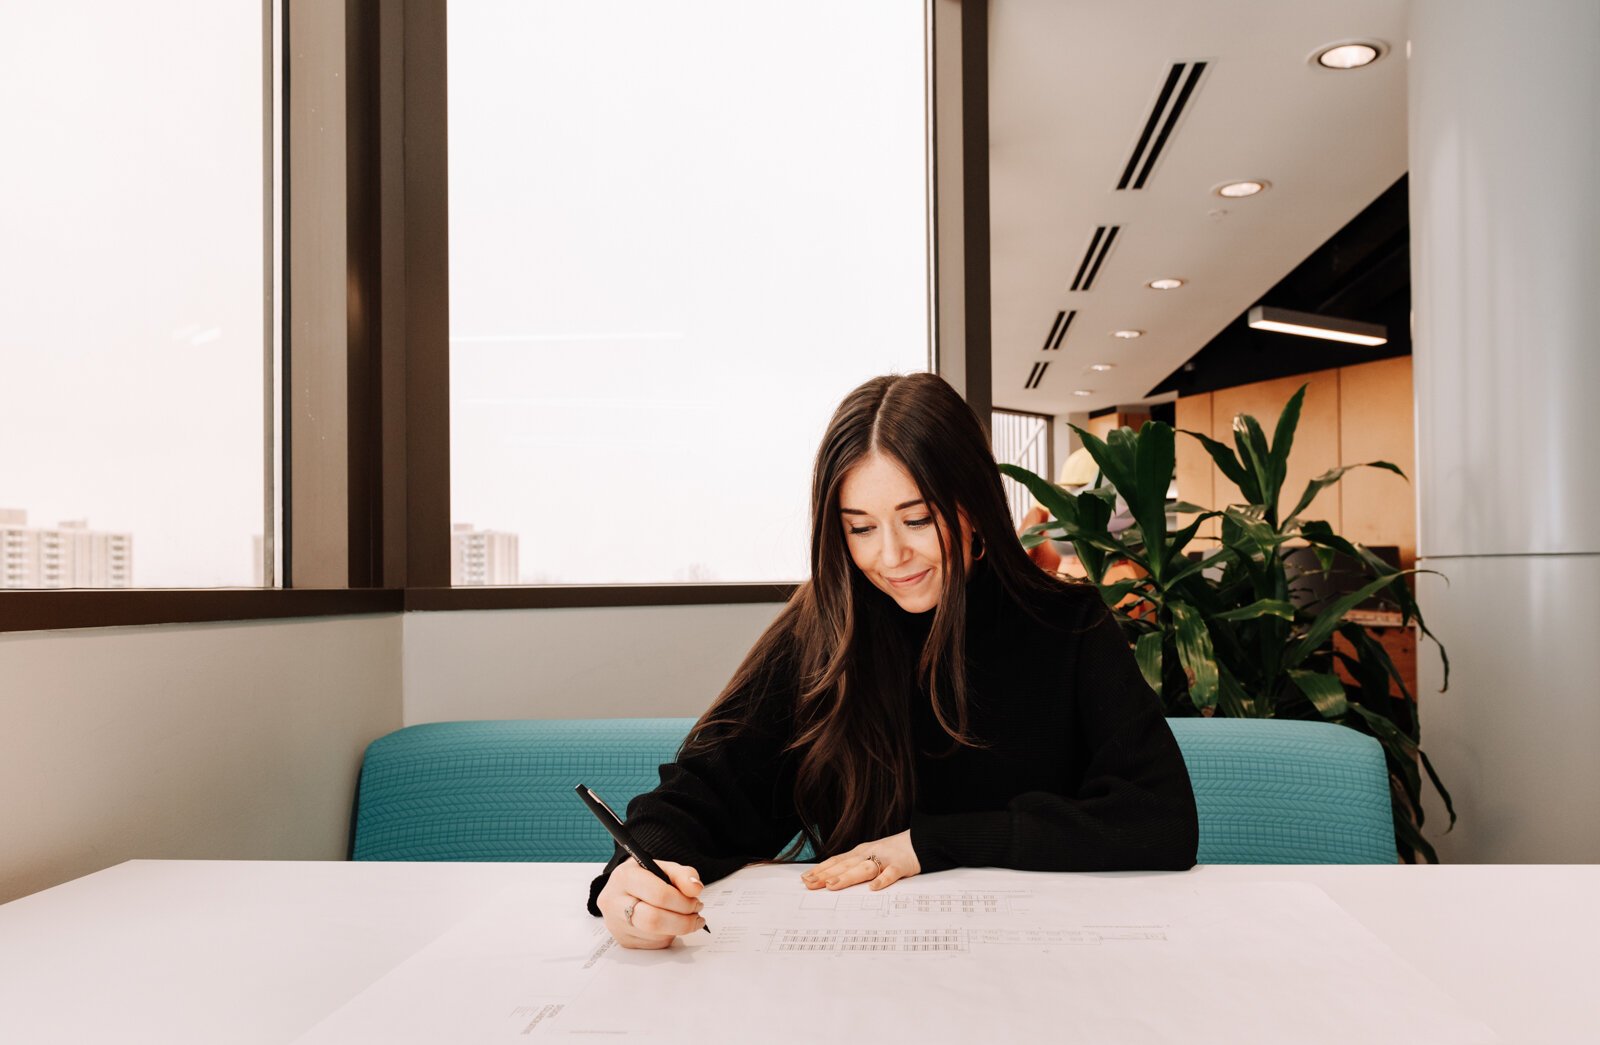
[[[405,615],[405,722],[698,715],[782,607]]]

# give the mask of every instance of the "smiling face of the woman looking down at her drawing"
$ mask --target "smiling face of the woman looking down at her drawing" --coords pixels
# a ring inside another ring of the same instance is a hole
[[[850,559],[907,613],[926,613],[944,592],[944,523],[899,461],[882,453],[861,459],[838,486],[838,522]],[[955,538],[966,549],[966,525]],[[952,541],[944,536],[946,544]]]

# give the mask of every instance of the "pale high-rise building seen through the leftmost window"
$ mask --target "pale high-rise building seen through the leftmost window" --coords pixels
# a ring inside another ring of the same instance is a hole
[[[0,509],[0,587],[133,587],[133,535],[82,518],[35,528],[27,512]]]

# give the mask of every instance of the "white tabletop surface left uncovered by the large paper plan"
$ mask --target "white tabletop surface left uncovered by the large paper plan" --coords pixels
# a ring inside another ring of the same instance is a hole
[[[507,887],[587,919],[594,871],[131,861],[0,906],[0,1042],[291,1042]],[[1597,866],[1187,874],[1315,883],[1506,1042],[1600,1042]]]

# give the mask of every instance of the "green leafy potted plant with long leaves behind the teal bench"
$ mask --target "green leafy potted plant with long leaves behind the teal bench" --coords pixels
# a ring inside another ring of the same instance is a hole
[[[1389,763],[1400,853],[1437,861],[1421,831],[1424,773],[1451,826],[1456,811],[1419,744],[1416,701],[1382,643],[1346,615],[1379,595],[1398,608],[1403,624],[1416,623],[1438,647],[1446,687],[1450,658],[1418,611],[1406,583],[1414,570],[1397,570],[1326,522],[1306,517],[1317,494],[1354,467],[1403,472],[1387,461],[1336,467],[1315,477],[1283,512],[1280,496],[1304,395],[1302,386],[1285,405],[1270,442],[1248,414],[1234,419],[1234,446],[1182,432],[1200,440],[1243,493],[1245,504],[1221,510],[1168,504],[1176,432],[1157,421],[1138,432],[1117,429],[1106,440],[1075,429],[1104,477],[1102,485],[1077,494],[1022,467],[1002,464],[1000,470],[1024,483],[1051,514],[1024,531],[1024,546],[1072,543],[1168,715],[1320,719],[1374,736]],[[1133,525],[1114,535],[1118,496]],[[1192,514],[1194,520],[1174,528],[1168,512]],[[1200,538],[1211,518],[1219,520],[1221,538]],[[1298,547],[1310,547],[1323,573],[1336,560],[1354,563],[1365,583],[1315,613],[1298,607],[1299,575],[1286,563]],[[1134,570],[1114,570],[1118,563]],[[1134,576],[1107,579],[1114,571]]]

